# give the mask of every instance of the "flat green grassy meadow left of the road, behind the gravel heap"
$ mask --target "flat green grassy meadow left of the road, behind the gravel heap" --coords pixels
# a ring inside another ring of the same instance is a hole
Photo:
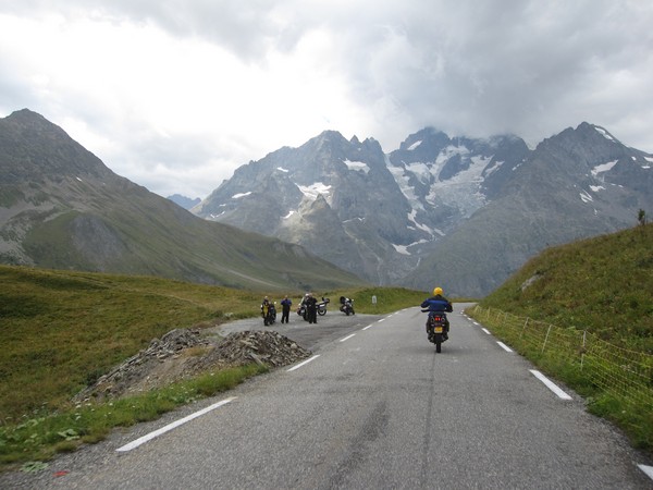
[[[65,408],[78,390],[170,330],[257,316],[262,295],[270,294],[13,266],[0,266],[0,426],[34,411]],[[304,292],[285,293],[298,299]],[[398,287],[316,293],[330,296],[332,309],[344,294],[355,298],[358,313],[378,314],[426,297]]]

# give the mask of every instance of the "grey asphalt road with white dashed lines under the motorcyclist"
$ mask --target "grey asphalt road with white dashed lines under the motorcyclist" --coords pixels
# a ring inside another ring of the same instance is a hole
[[[13,488],[650,489],[642,456],[574,392],[560,399],[481,326],[449,315],[441,354],[424,315],[330,310],[273,329],[317,357],[161,420],[116,431]],[[250,330],[255,320],[227,330]],[[224,405],[131,449],[217,402]],[[125,450],[127,448],[128,450]],[[123,451],[118,451],[123,449]],[[54,476],[64,471],[62,476]],[[0,478],[0,487],[3,479]],[[8,487],[8,488],[12,488]]]

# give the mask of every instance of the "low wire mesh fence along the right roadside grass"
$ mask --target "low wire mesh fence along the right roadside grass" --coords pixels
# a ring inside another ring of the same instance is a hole
[[[480,305],[470,314],[515,348],[555,359],[601,390],[653,411],[653,355],[618,347],[575,327],[560,328]]]

